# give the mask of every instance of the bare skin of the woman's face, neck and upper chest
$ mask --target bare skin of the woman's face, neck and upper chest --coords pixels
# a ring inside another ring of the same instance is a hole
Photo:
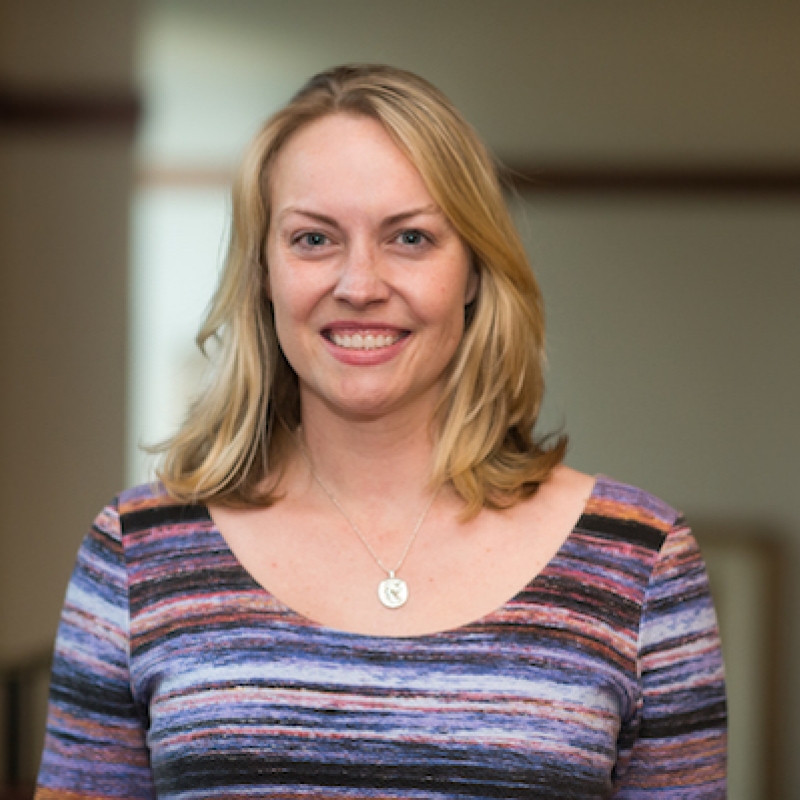
[[[267,292],[299,378],[302,438],[391,569],[430,500],[430,420],[478,278],[419,172],[374,120],[336,114],[301,129],[269,188]],[[383,346],[342,346],[356,335]],[[399,573],[411,594],[396,610],[378,602],[385,573],[299,449],[280,502],[211,514],[245,569],[296,612],[413,636],[464,625],[516,595],[570,533],[593,483],[559,467],[533,498],[468,523],[445,486]]]

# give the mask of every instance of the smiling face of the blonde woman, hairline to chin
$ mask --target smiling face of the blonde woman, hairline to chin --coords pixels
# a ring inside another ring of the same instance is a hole
[[[270,175],[267,291],[304,417],[430,415],[476,291],[467,247],[372,119],[298,131]]]

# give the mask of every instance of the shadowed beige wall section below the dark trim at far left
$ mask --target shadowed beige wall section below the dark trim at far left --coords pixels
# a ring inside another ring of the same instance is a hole
[[[75,545],[122,481],[130,144],[5,134],[0,645],[46,644]]]

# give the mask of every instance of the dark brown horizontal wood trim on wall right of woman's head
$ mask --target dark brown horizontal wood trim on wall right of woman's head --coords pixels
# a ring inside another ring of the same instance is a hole
[[[535,194],[800,194],[800,164],[786,166],[526,166],[504,182]]]

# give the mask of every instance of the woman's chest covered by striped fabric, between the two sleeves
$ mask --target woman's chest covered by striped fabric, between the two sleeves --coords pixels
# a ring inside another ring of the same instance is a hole
[[[185,553],[132,587],[160,795],[602,797],[637,702],[635,626],[562,566],[476,623],[388,638],[309,623],[221,545]]]

